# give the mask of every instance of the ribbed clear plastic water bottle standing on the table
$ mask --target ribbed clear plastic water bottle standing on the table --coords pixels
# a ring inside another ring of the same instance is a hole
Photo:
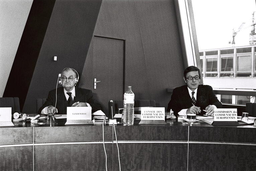
[[[123,125],[130,126],[134,123],[134,93],[132,86],[128,86],[123,95]]]

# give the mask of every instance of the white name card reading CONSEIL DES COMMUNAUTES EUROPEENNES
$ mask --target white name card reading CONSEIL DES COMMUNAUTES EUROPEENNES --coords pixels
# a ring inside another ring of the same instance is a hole
[[[165,120],[165,108],[141,108],[141,120]]]

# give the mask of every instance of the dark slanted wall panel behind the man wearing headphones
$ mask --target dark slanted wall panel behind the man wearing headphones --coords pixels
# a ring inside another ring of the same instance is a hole
[[[37,112],[36,99],[47,98],[65,67],[81,76],[100,5],[101,0],[56,0],[22,112]]]

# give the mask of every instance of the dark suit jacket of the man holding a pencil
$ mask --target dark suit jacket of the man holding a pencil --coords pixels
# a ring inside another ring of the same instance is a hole
[[[204,115],[203,111],[208,105],[215,105],[217,108],[222,108],[221,102],[217,99],[209,85],[198,85],[197,95],[196,95],[196,104],[195,106],[200,107],[201,114]],[[178,112],[182,109],[188,109],[192,105],[192,99],[189,96],[187,85],[183,85],[181,87],[177,87],[172,92],[171,100],[168,104],[167,111],[170,109],[173,110],[174,115],[178,116]]]

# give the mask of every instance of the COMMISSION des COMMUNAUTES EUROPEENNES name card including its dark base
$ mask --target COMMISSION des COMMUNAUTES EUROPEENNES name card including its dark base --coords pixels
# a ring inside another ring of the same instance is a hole
[[[237,122],[237,109],[214,109],[214,122],[211,125],[239,125]]]

